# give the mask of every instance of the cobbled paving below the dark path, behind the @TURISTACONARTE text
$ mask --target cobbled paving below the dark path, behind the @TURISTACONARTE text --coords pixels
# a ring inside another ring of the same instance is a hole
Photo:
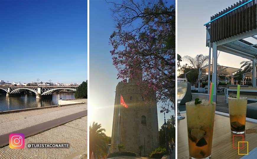
[[[69,143],[69,148],[27,148],[28,143]],[[73,158],[87,149],[87,116],[68,122],[40,134],[25,138],[25,148],[0,148],[4,159],[63,159]],[[75,154],[75,155],[74,155]]]

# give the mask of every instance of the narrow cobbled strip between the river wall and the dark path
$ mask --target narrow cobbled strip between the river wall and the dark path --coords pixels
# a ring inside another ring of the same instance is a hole
[[[87,110],[87,104],[0,115],[0,135]]]

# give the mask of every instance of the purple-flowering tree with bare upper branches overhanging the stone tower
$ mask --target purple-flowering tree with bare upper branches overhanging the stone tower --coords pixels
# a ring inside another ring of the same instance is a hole
[[[156,92],[161,112],[175,103],[175,8],[165,1],[124,0],[111,11],[116,30],[110,36],[118,78],[136,79],[147,102]],[[117,78],[117,79],[118,79]]]

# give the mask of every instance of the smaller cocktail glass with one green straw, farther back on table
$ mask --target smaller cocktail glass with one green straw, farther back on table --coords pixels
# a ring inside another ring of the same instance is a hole
[[[231,132],[236,134],[245,133],[247,97],[228,98],[228,109]]]

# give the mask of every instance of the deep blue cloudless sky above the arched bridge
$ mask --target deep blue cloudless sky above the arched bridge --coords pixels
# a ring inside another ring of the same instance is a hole
[[[0,1],[0,80],[87,80],[87,1]]]

